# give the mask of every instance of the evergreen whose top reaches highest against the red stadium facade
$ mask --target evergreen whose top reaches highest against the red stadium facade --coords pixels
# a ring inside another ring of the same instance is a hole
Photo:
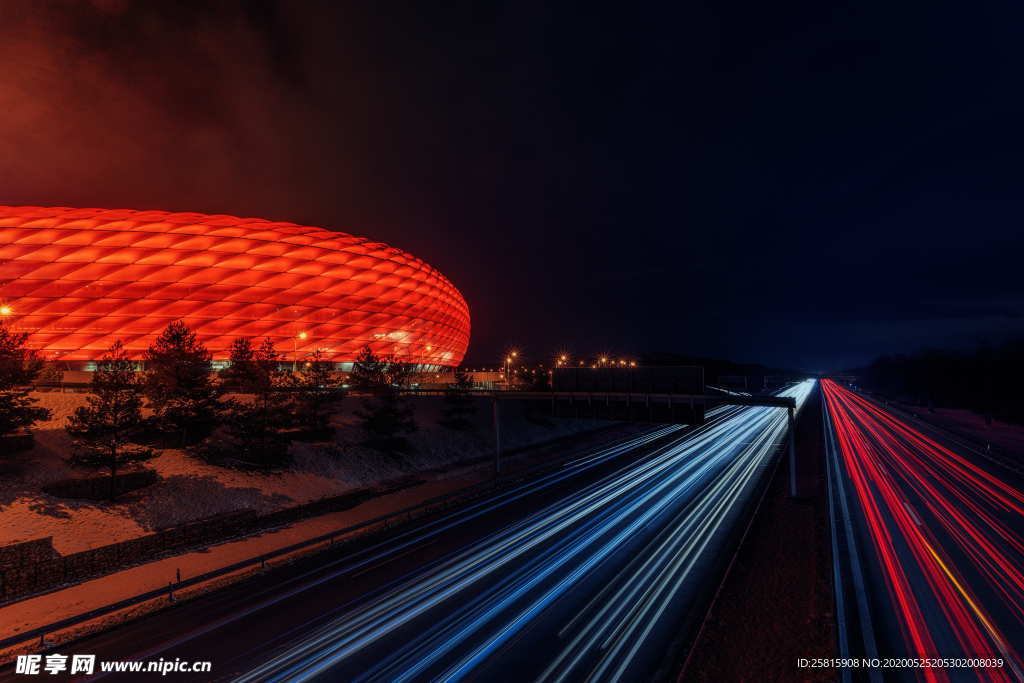
[[[157,428],[176,434],[182,445],[217,426],[220,390],[211,375],[210,351],[196,333],[176,321],[146,352],[145,397]]]

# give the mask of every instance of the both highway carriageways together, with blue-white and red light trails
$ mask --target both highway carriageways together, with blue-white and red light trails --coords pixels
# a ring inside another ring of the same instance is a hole
[[[813,388],[784,394],[802,405]],[[861,661],[836,671],[1024,680],[1021,482],[835,382],[821,390],[838,653]],[[214,680],[668,677],[785,431],[773,408],[652,427],[73,650],[210,660]]]

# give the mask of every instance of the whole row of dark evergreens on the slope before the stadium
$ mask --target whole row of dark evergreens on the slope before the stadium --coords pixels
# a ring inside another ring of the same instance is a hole
[[[31,436],[35,423],[51,417],[31,393],[44,364],[28,339],[0,321],[0,437],[19,431]],[[155,457],[157,449],[183,449],[232,467],[286,467],[293,441],[334,442],[332,419],[341,415],[349,386],[359,397],[352,415],[365,445],[397,458],[414,450],[407,437],[417,423],[406,394],[418,379],[414,368],[369,347],[345,374],[321,350],[288,362],[269,339],[243,337],[233,341],[228,366],[218,373],[198,335],[175,321],[140,360],[115,342],[96,361],[85,404],[66,425],[70,461],[106,470],[112,499],[118,473]],[[56,372],[52,380],[60,376]],[[464,372],[456,377],[438,423],[472,431],[472,381]]]

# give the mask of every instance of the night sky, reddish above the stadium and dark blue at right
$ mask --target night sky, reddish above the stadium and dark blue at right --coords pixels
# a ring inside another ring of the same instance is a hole
[[[210,4],[0,5],[0,203],[390,243],[470,365],[1024,331],[1019,2]]]

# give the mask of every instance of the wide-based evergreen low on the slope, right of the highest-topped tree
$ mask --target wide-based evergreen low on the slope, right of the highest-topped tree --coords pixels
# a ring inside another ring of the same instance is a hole
[[[262,467],[280,466],[288,460],[291,443],[285,430],[294,423],[289,395],[294,380],[281,370],[281,355],[270,339],[253,351],[249,368],[250,374],[241,379],[251,398],[228,401],[220,455],[230,453]]]

